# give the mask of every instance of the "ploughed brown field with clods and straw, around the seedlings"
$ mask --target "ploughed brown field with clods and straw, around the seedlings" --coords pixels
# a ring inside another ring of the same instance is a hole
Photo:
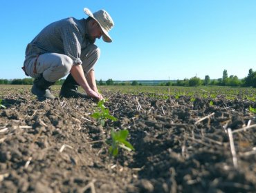
[[[96,101],[30,87],[0,85],[1,192],[256,192],[256,89],[100,87],[102,126]],[[135,151],[111,156],[111,128]]]

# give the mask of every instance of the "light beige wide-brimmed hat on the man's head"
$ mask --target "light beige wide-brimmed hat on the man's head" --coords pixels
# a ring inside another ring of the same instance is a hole
[[[105,10],[99,10],[98,12],[92,13],[88,8],[84,8],[84,12],[99,23],[103,32],[102,39],[106,42],[112,42],[112,39],[109,36],[109,30],[113,28],[113,19],[110,17],[108,12]]]

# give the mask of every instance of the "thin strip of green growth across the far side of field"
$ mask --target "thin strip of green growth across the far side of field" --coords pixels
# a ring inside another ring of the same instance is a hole
[[[1,93],[8,92],[10,89],[27,90],[30,92],[32,85],[0,85]],[[58,96],[60,93],[61,85],[53,85],[51,90],[53,94]],[[98,86],[100,90],[109,92],[121,92],[123,94],[146,94],[155,99],[168,99],[170,88],[170,95],[179,99],[180,96],[191,96],[192,98],[202,97],[202,98],[212,98],[215,99],[220,94],[226,96],[227,99],[234,100],[237,97],[239,99],[247,99],[250,101],[256,101],[256,88],[231,88],[223,86],[201,86],[201,87],[178,87],[178,86],[132,86],[132,85],[103,85]],[[79,88],[82,91],[82,88]],[[0,99],[1,99],[0,93]]]

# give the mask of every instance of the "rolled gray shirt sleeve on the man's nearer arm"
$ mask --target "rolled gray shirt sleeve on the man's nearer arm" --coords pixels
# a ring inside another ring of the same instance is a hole
[[[82,34],[75,25],[66,25],[62,28],[62,41],[64,52],[68,57],[71,57],[74,65],[82,64],[81,44]]]

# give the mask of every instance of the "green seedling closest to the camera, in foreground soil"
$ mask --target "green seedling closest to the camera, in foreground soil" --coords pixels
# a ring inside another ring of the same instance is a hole
[[[118,155],[118,148],[123,148],[127,151],[135,150],[134,147],[129,143],[126,139],[129,134],[128,130],[119,130],[118,132],[115,132],[113,129],[111,129],[111,139],[112,144],[109,148],[109,153],[112,156]]]

